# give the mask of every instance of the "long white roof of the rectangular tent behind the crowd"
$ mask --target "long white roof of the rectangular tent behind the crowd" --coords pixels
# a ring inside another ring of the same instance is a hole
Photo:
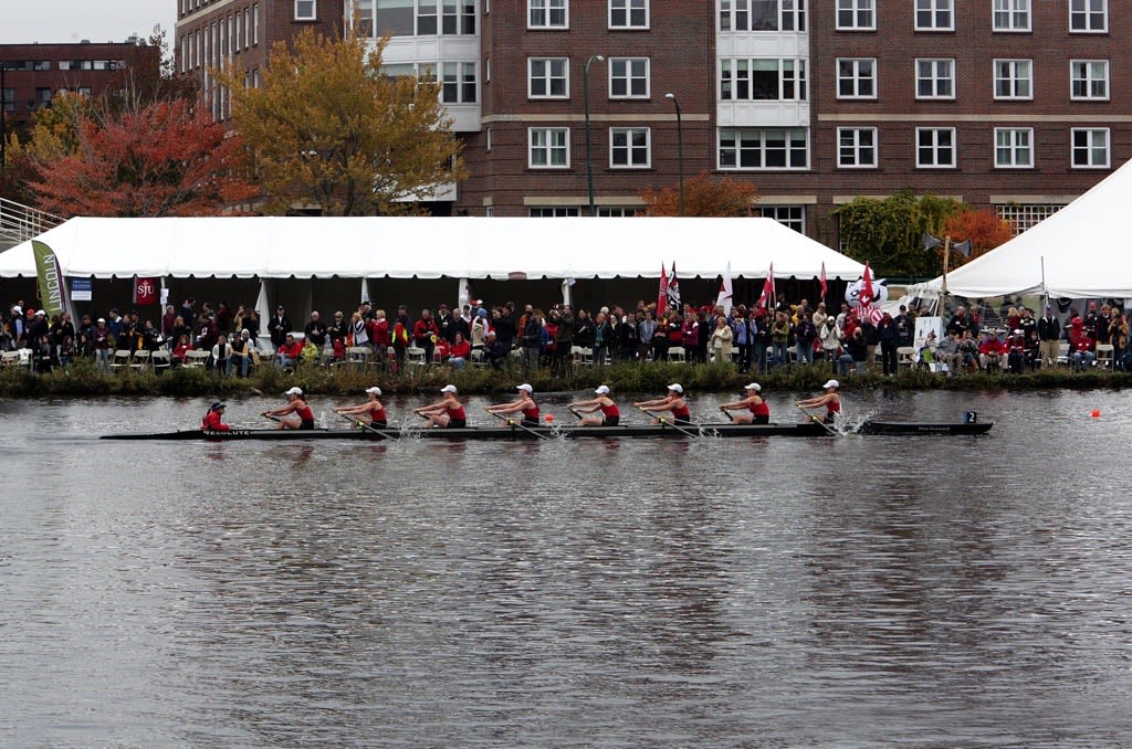
[[[856,279],[864,266],[771,218],[71,218],[40,235],[65,276]],[[0,277],[34,276],[31,242]]]

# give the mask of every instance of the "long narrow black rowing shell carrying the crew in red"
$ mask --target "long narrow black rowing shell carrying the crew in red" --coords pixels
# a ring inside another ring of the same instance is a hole
[[[859,432],[863,434],[985,434],[994,422],[977,423],[925,423],[897,421],[866,421]],[[834,432],[835,433],[835,432]],[[397,439],[446,439],[446,440],[523,440],[564,437],[597,438],[687,438],[704,437],[830,437],[830,431],[817,422],[786,424],[627,424],[618,427],[469,427],[465,429],[233,429],[228,432],[205,432],[186,429],[175,432],[148,434],[123,433],[103,434],[102,439],[130,440],[397,440]]]

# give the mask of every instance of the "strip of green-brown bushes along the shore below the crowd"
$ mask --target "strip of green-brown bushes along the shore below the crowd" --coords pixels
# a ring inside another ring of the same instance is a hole
[[[766,373],[740,372],[734,364],[687,364],[624,362],[608,365],[573,367],[555,374],[549,369],[524,370],[518,365],[490,369],[446,365],[411,367],[396,374],[380,369],[300,365],[293,370],[259,367],[247,378],[226,377],[204,368],[177,368],[155,372],[152,369],[123,369],[98,372],[92,361],[77,361],[66,369],[37,374],[25,368],[0,370],[0,397],[44,396],[134,396],[231,398],[241,395],[274,395],[298,386],[312,395],[363,395],[377,385],[387,395],[436,394],[451,382],[462,395],[511,393],[516,382],[530,382],[535,393],[584,391],[608,385],[614,393],[663,393],[669,382],[680,382],[685,391],[727,393],[741,390],[752,380],[764,391],[812,393],[821,390],[830,378],[827,363],[795,364]],[[1066,367],[1022,374],[969,373],[946,377],[923,369],[903,369],[892,377],[880,367],[839,376],[842,390],[1023,390],[1090,389],[1132,386],[1132,373],[1100,369],[1073,372]]]

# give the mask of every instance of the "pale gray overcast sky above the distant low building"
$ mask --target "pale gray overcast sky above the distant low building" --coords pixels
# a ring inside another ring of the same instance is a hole
[[[170,49],[177,0],[0,0],[0,44],[125,42],[161,24]]]

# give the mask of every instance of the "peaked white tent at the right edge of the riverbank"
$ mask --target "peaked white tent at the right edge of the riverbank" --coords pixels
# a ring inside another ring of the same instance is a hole
[[[1130,199],[1132,162],[1029,231],[949,273],[947,293],[1132,298],[1132,255],[1124,239]],[[935,296],[942,284],[941,276],[909,293]]]

